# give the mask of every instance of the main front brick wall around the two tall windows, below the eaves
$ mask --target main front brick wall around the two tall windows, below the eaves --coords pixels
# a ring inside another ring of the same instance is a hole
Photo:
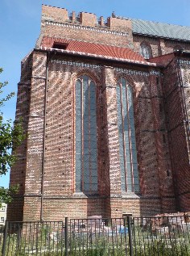
[[[158,132],[158,130],[165,128],[164,113],[159,113],[159,104],[163,104],[160,87],[161,78],[159,77],[158,80],[155,75],[148,73],[147,76],[138,75],[138,73],[127,75],[128,69],[114,69],[114,67],[101,65],[94,68],[92,65],[90,69],[83,65],[71,65],[71,63],[69,65],[67,62],[61,63],[61,61],[78,60],[57,56],[56,59],[60,61],[58,63],[50,62],[48,65],[43,163],[46,59],[45,53],[33,53],[30,114],[35,113],[38,116],[31,116],[28,124],[29,136],[27,138],[27,170],[25,178],[25,194],[27,197],[24,204],[23,219],[39,219],[41,209],[43,218],[46,220],[49,220],[52,214],[56,220],[60,220],[60,217],[68,216],[68,214],[73,217],[78,215],[85,217],[91,214],[94,215],[94,212],[103,216],[106,216],[106,214],[121,216],[123,211],[126,212],[126,208],[129,208],[136,215],[146,211],[150,215],[152,209],[145,211],[142,203],[147,196],[151,200],[155,197],[159,198],[159,210],[155,211],[154,209],[153,212],[160,212],[163,208],[167,212],[171,210],[171,208],[167,208],[167,205],[163,206],[162,203],[164,196],[172,197],[173,194],[171,179],[166,177],[167,168],[170,166],[170,161],[165,156],[167,144],[163,142],[163,132]],[[75,192],[73,85],[76,78],[82,73],[86,73],[93,78],[97,88],[99,88],[97,90],[97,100],[100,101],[100,105],[97,104],[97,113],[99,113],[97,114],[98,145],[100,145],[98,149],[98,189],[100,195],[110,196],[110,199],[106,199],[106,201],[101,197],[86,199],[84,196],[78,198],[79,195],[73,194]],[[122,197],[118,162],[115,85],[121,76],[127,79],[134,90],[134,116],[142,195],[132,199],[128,195],[124,195],[124,198]],[[103,145],[102,148],[101,145]],[[42,170],[42,163],[44,170]],[[14,170],[12,170],[12,174],[14,175]],[[41,186],[42,174],[43,187]],[[43,204],[41,205],[42,190]],[[78,200],[80,200],[80,204],[85,205],[85,208],[81,208],[80,211],[76,211],[75,208],[78,205]],[[52,201],[55,201],[55,203],[52,203]],[[106,203],[104,204],[104,202]],[[35,204],[34,214],[28,210],[33,204]],[[59,208],[56,207],[57,204],[60,204]],[[63,207],[61,207],[62,204]],[[136,205],[136,210],[134,210],[133,204]],[[55,205],[55,208],[52,205]],[[48,208],[49,211],[47,210]]]

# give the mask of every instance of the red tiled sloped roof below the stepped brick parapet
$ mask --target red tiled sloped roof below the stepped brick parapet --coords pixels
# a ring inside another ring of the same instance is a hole
[[[105,44],[93,44],[89,42],[43,37],[41,46],[53,47],[53,44],[66,44],[66,50],[84,52],[98,56],[114,57],[132,61],[145,61],[144,58],[130,48],[116,47]],[[55,47],[56,48],[56,47]]]

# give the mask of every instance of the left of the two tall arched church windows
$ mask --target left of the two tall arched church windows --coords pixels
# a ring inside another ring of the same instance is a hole
[[[76,80],[76,192],[97,191],[96,85],[86,75]]]

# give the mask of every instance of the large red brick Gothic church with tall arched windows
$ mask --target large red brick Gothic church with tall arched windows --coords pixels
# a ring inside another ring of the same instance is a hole
[[[190,27],[42,6],[8,220],[190,211]]]

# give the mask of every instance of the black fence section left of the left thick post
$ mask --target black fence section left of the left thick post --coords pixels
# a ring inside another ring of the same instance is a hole
[[[0,241],[3,256],[63,255],[64,223],[6,222]]]

